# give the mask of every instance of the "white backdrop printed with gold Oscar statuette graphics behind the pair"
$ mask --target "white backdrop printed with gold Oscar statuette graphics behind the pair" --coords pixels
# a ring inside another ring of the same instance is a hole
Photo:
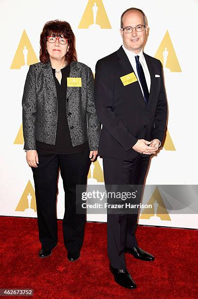
[[[93,25],[94,2],[98,7],[96,25]],[[165,47],[168,51],[164,70],[168,133],[163,148],[151,160],[146,184],[198,184],[197,0],[0,0],[3,28],[0,46],[0,215],[36,217],[34,181],[23,151],[21,99],[28,65],[39,59],[39,36],[44,23],[54,19],[68,21],[76,36],[78,61],[89,65],[94,73],[97,60],[122,44],[120,16],[131,6],[141,8],[148,19],[149,36],[144,52],[163,63],[162,52]],[[25,46],[27,65],[23,53]],[[99,158],[93,165],[93,173],[89,174],[88,184],[101,183],[104,184],[104,179]],[[166,211],[164,194],[158,190],[153,187],[155,193],[151,197]],[[151,197],[143,201],[148,203]],[[184,207],[180,214],[159,211],[148,219],[142,214],[139,223],[198,228],[197,215],[191,209]],[[63,213],[64,193],[59,178],[58,218],[62,218]],[[88,215],[87,219],[106,221],[106,215]]]

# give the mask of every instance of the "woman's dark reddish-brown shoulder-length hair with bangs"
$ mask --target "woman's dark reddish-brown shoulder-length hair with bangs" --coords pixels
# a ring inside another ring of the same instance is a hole
[[[40,61],[47,63],[50,61],[50,56],[46,49],[47,36],[58,36],[68,39],[69,50],[65,55],[65,61],[71,64],[72,61],[77,61],[75,50],[75,36],[70,24],[66,21],[54,20],[45,23],[40,34]]]

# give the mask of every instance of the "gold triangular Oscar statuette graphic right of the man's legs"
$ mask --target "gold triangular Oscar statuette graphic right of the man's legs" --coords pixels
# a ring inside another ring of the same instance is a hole
[[[155,188],[147,204],[152,205],[152,208],[145,208],[140,215],[140,219],[171,221],[158,187]]]

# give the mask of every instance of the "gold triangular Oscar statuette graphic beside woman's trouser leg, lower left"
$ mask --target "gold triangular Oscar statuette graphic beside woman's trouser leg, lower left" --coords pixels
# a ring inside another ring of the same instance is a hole
[[[36,197],[35,190],[29,180],[15,211],[31,212],[31,210],[36,212]]]

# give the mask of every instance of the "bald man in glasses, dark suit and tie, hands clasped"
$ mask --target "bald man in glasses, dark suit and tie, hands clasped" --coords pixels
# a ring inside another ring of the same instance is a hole
[[[123,45],[96,64],[95,102],[103,125],[99,155],[106,186],[143,185],[150,155],[157,152],[166,128],[162,64],[143,53],[147,22],[142,10],[129,8],[122,14],[120,33]],[[154,260],[138,246],[137,218],[138,213],[108,214],[110,270],[129,289],[136,284],[126,269],[125,252]]]

